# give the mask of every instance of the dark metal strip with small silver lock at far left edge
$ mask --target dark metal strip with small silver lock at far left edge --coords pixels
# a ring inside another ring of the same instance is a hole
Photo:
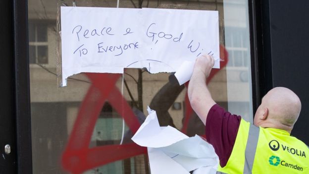
[[[13,12],[11,0],[0,1],[0,173],[16,173],[16,141],[14,118],[14,66],[13,66]],[[11,152],[6,154],[5,145],[9,145]]]

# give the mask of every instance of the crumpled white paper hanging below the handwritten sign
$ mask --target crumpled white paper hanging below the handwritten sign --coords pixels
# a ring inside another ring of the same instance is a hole
[[[148,147],[152,174],[215,174],[219,163],[213,147],[199,135],[188,137],[174,127],[160,127],[156,113],[149,116],[132,140]]]

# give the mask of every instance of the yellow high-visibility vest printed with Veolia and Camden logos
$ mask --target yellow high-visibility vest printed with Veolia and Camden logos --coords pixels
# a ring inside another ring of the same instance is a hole
[[[309,147],[285,130],[241,119],[231,156],[217,174],[309,174]]]

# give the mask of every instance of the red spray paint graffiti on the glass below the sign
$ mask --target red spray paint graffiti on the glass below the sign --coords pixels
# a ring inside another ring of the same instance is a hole
[[[220,58],[223,58],[223,61],[220,61],[221,68],[226,66],[227,57],[225,48],[220,46]],[[219,70],[212,70],[208,81]],[[138,146],[135,143],[89,148],[96,121],[106,100],[123,117],[133,134],[140,127],[140,123],[115,86],[117,79],[121,76],[120,74],[86,73],[86,75],[92,81],[92,85],[82,102],[69,141],[62,154],[62,167],[73,174],[80,174],[107,163],[147,153],[147,148]],[[183,132],[186,132],[188,120],[193,112],[188,96],[185,98],[185,104],[186,113],[182,128]]]

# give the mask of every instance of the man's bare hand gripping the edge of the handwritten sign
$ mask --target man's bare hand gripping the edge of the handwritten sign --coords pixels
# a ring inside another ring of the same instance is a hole
[[[194,71],[202,71],[207,78],[214,64],[214,59],[210,55],[198,57],[194,64]]]

